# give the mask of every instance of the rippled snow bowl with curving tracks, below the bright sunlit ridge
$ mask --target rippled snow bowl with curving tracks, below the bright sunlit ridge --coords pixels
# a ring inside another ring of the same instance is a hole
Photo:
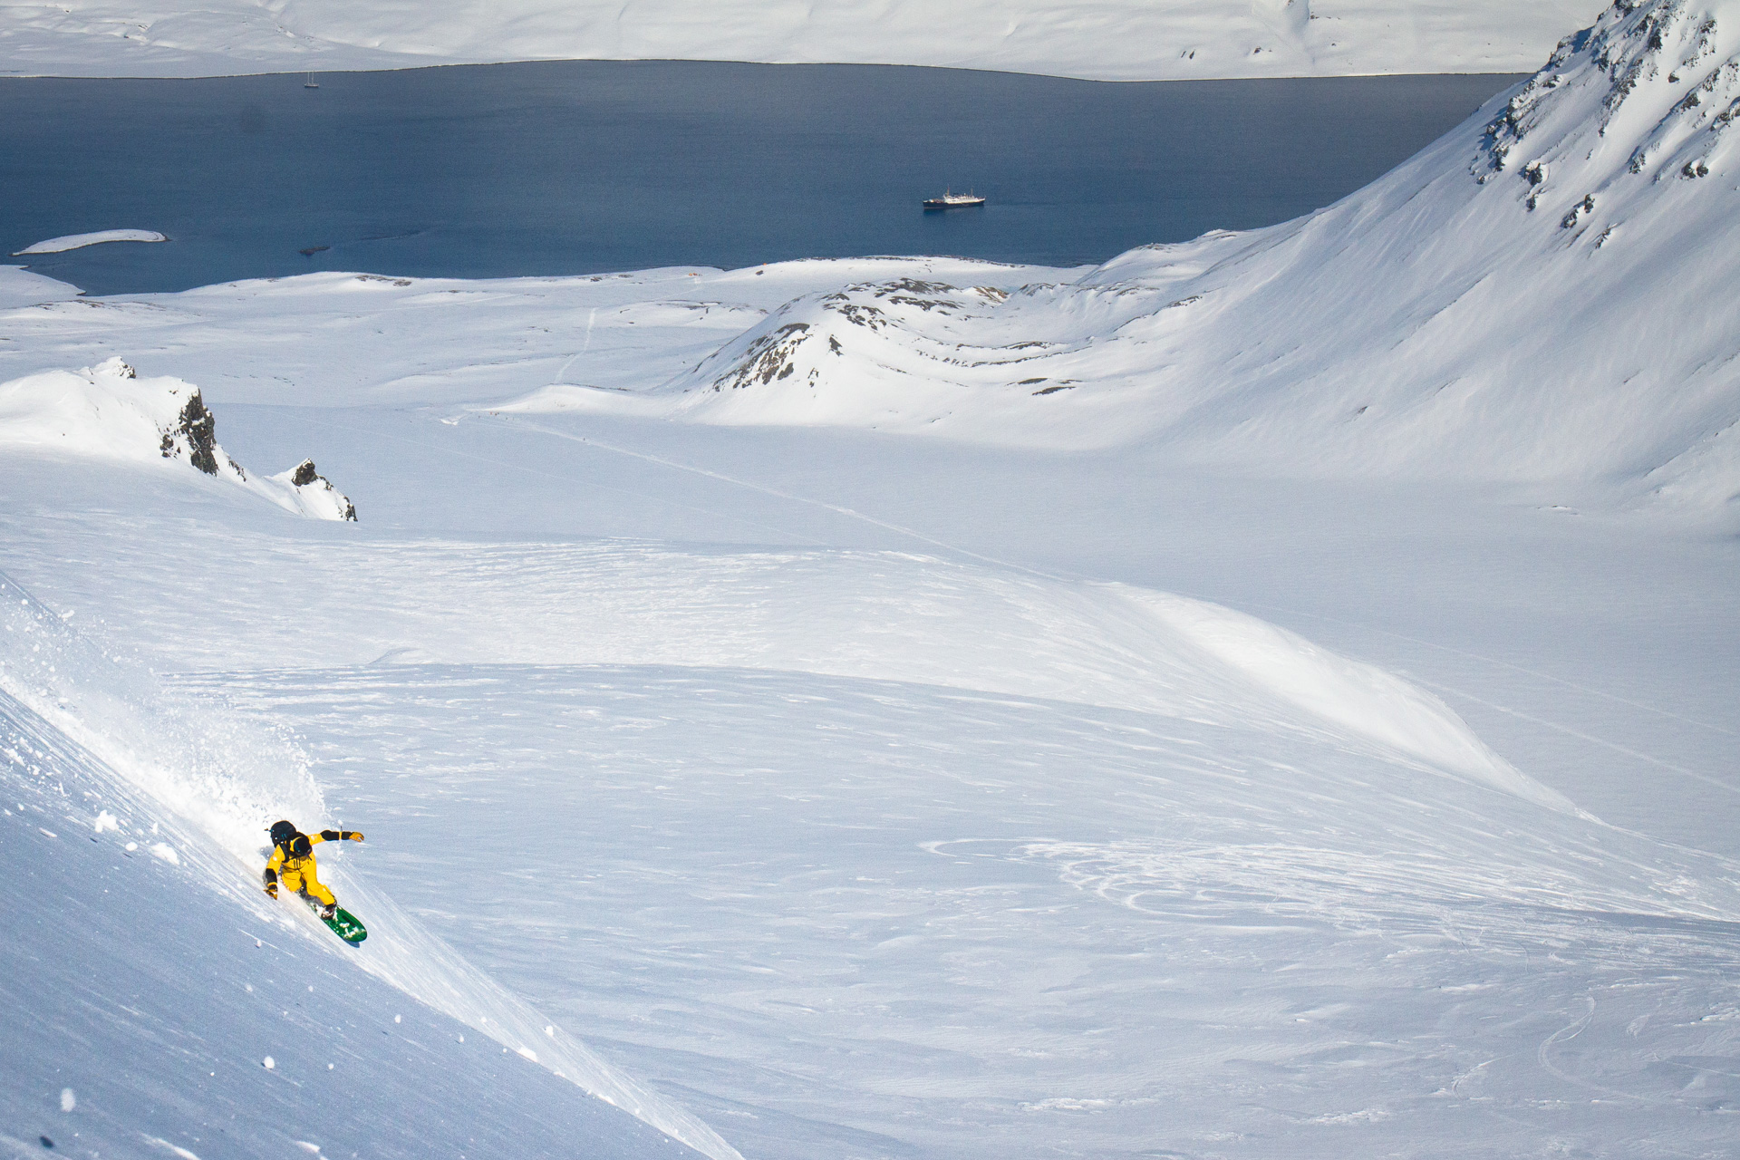
[[[395,896],[630,1066],[703,1092],[708,1118],[773,1120],[736,1125],[750,1155],[840,1146],[823,1125],[910,1120],[912,1101],[908,1141],[992,1157],[1035,1117],[1103,1150],[1215,1130],[1262,1148],[1350,1106],[1382,1111],[1364,1148],[1469,1115],[1503,1148],[1484,1104],[1589,1130],[1603,1113],[1571,1094],[1590,1087],[1691,1141],[1693,1106],[1731,1097],[1721,1077],[1683,1094],[1653,1061],[1733,1042],[1703,1019],[1737,995],[1740,868],[1255,723],[656,666],[184,683],[324,737],[338,800],[414,835],[379,871]],[[425,849],[456,878],[432,880]],[[478,915],[491,899],[520,918]],[[1589,997],[1585,1056],[1556,1033]],[[1493,1010],[1514,1012],[1498,1038]],[[1650,1035],[1615,1050],[1641,1016]],[[1540,1057],[1418,1099],[1522,1035]],[[1232,1077],[1239,1110],[1220,1103]],[[1081,1101],[1101,1118],[1075,1120]]]

